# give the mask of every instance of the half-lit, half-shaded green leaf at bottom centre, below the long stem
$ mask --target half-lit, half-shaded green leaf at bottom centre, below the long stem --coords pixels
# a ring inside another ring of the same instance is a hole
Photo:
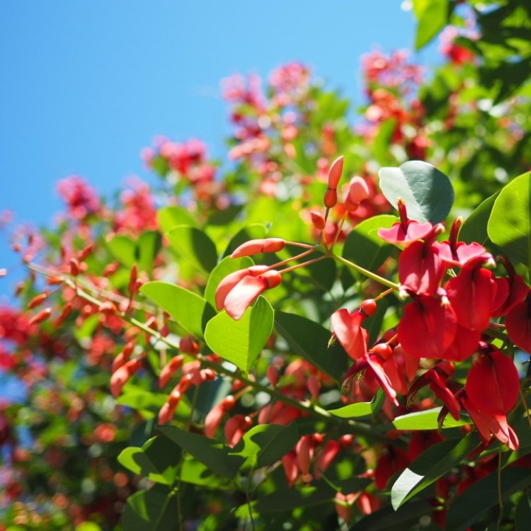
[[[295,423],[289,426],[259,424],[244,435],[234,453],[245,457],[250,467],[265,467],[290,452],[299,437]]]

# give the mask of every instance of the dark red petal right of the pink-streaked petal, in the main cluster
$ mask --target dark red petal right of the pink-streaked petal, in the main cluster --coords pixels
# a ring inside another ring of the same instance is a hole
[[[491,271],[481,267],[465,265],[457,277],[448,280],[446,293],[461,326],[469,330],[489,326],[495,289]]]

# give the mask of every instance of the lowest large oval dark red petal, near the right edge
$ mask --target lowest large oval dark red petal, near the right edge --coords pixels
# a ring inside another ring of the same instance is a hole
[[[474,408],[487,415],[505,415],[513,409],[520,389],[513,360],[499,350],[480,355],[469,370],[466,389]]]

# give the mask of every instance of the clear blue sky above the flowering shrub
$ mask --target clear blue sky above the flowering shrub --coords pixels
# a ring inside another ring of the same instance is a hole
[[[199,137],[224,159],[219,80],[236,72],[302,61],[360,103],[360,55],[411,48],[413,31],[399,0],[3,1],[0,211],[50,226],[59,179],[110,195],[146,175],[139,151],[157,134]],[[14,262],[0,236],[0,268]]]

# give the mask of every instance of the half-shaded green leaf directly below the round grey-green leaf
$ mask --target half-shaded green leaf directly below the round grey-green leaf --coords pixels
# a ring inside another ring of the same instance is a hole
[[[395,216],[379,215],[365,219],[350,231],[343,246],[343,258],[375,271],[394,250],[378,236],[378,229],[389,229]]]

